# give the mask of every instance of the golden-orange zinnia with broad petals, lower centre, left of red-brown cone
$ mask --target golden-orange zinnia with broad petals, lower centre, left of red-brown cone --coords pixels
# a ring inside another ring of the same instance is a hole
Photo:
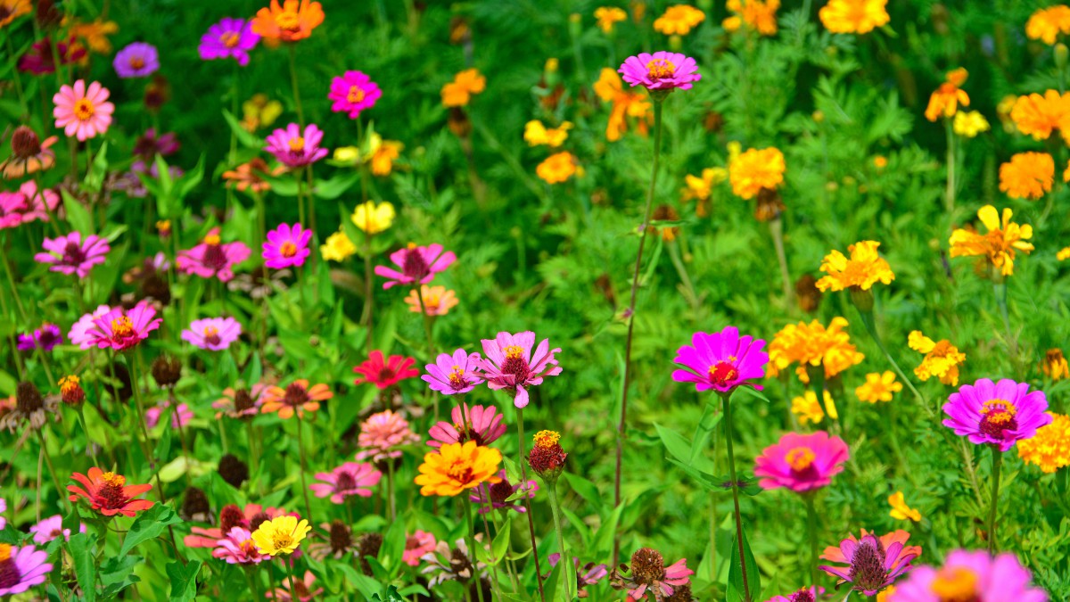
[[[438,452],[424,455],[424,464],[419,465],[419,476],[414,482],[421,485],[421,495],[453,497],[480,483],[501,481],[498,476],[501,462],[502,452],[494,448],[485,448],[475,441],[447,443]]]

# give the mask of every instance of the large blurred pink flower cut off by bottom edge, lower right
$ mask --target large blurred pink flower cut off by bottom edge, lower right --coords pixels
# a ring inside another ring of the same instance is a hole
[[[896,586],[891,602],[1048,602],[1048,593],[1030,587],[1033,575],[1013,554],[956,550],[939,569],[918,567]]]

